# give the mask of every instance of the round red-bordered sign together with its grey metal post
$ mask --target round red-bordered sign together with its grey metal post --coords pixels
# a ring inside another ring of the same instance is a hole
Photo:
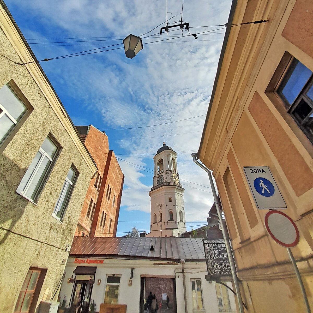
[[[305,292],[302,278],[290,248],[299,243],[300,234],[295,222],[285,213],[278,210],[270,210],[265,214],[265,228],[277,244],[287,248],[291,263],[297,276],[307,313],[311,313],[308,297]]]

